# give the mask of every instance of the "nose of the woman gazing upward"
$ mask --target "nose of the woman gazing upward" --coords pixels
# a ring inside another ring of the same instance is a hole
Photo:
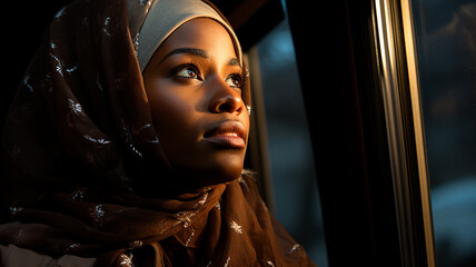
[[[240,115],[244,110],[244,102],[241,99],[241,91],[230,88],[225,82],[217,86],[214,95],[209,101],[208,109],[214,113],[236,113]]]

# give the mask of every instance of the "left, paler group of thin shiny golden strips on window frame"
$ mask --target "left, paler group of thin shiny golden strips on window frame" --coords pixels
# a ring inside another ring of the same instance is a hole
[[[387,128],[388,151],[394,184],[396,217],[399,233],[399,247],[403,266],[411,266],[416,261],[411,218],[408,216],[410,198],[408,196],[407,155],[405,149],[404,125],[401,121],[399,83],[396,72],[393,23],[389,2],[375,0],[373,4],[374,36],[378,65],[379,86]]]

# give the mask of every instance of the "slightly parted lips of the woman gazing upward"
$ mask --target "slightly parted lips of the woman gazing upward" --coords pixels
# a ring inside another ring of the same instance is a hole
[[[246,129],[239,121],[225,121],[205,132],[204,140],[222,148],[241,149],[246,147]]]

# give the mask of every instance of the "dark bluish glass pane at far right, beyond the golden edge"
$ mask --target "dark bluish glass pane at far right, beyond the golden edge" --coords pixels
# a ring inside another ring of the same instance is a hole
[[[476,266],[476,2],[414,12],[438,266]]]

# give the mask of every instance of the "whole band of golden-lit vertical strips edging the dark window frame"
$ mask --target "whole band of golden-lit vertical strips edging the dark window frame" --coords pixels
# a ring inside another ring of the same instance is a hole
[[[398,230],[400,235],[400,249],[401,260],[404,266],[413,265],[418,261],[418,257],[424,255],[417,255],[419,248],[418,237],[414,237],[411,234],[415,230],[415,221],[413,217],[416,215],[408,214],[408,208],[411,205],[418,205],[422,209],[422,226],[423,226],[423,243],[425,244],[425,266],[436,266],[435,255],[435,239],[433,231],[433,217],[430,206],[430,191],[429,191],[429,178],[427,171],[427,158],[426,158],[426,145],[425,145],[425,132],[423,127],[423,113],[420,105],[420,93],[418,83],[418,66],[416,61],[415,50],[415,38],[414,38],[414,24],[413,24],[413,12],[411,2],[409,0],[403,0],[399,3],[390,0],[374,0],[373,4],[373,18],[374,21],[374,34],[376,39],[376,55],[378,59],[378,68],[380,76],[380,87],[384,97],[384,110],[386,115],[387,123],[387,136],[388,146],[390,152],[390,167],[394,180],[394,191],[397,208],[397,220]],[[401,21],[398,22],[398,14],[395,13],[400,11]],[[395,24],[396,23],[396,24]],[[398,23],[401,23],[403,30],[403,48],[397,48],[398,33],[400,29]],[[394,32],[398,31],[398,32]],[[397,60],[397,51],[404,52],[403,57],[405,60]],[[406,62],[405,66],[398,66],[399,62]],[[405,73],[399,73],[399,68],[405,68]],[[406,79],[406,80],[405,80]],[[403,82],[403,83],[400,83]],[[407,89],[405,89],[407,88]],[[399,90],[408,90],[408,101],[410,101],[411,111],[408,116],[413,119],[413,134],[404,134],[404,121],[401,110],[401,99]],[[411,156],[411,148],[407,148],[404,144],[411,144],[411,140],[405,140],[410,138],[414,141],[415,156]],[[407,142],[409,141],[409,142]],[[410,149],[407,151],[407,149]],[[409,155],[407,155],[409,152]],[[408,160],[415,157],[416,174],[415,177],[418,179],[419,191],[416,191],[411,199],[409,179],[414,179],[414,175],[410,175],[409,169],[414,164],[408,165]],[[418,210],[418,209],[416,209]],[[417,216],[419,217],[419,216]],[[420,250],[422,251],[422,250]]]

